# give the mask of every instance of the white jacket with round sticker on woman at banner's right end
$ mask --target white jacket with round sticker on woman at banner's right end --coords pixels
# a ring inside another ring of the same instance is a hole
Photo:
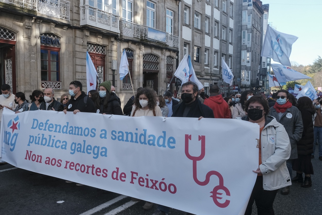
[[[248,121],[245,116],[242,120]],[[282,124],[270,115],[265,118],[265,126],[260,135],[260,171],[263,174],[263,189],[272,191],[291,185],[286,161],[291,154],[289,135]]]

